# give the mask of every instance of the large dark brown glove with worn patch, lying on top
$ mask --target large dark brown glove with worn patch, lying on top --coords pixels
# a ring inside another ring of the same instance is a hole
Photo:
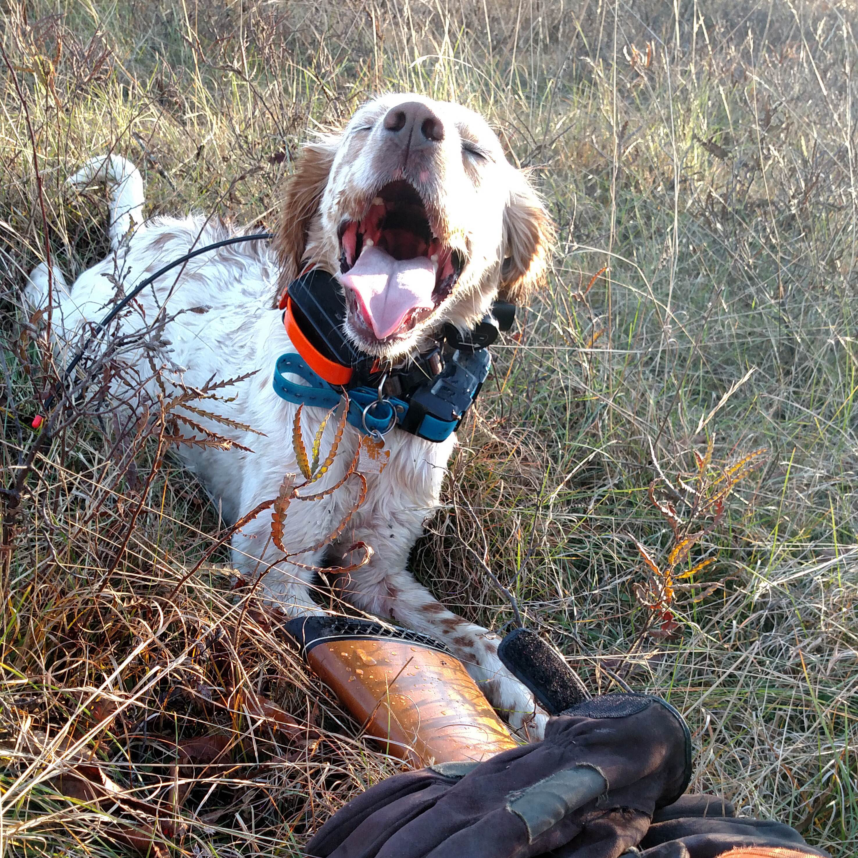
[[[612,694],[553,718],[541,742],[389,778],[329,819],[306,854],[617,858],[690,776],[691,737],[673,706]]]

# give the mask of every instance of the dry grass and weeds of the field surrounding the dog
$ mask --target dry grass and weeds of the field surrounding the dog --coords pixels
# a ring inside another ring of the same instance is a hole
[[[854,12],[7,0],[3,849],[123,855],[157,815],[158,849],[295,855],[396,770],[230,589],[225,554],[177,586],[222,534],[155,438],[114,444],[93,397],[35,446],[56,367],[19,289],[47,246],[69,274],[105,254],[103,197],[63,190],[89,155],[135,160],[151,211],[270,225],[301,141],[414,88],[491,119],[562,239],[415,571],[503,628],[485,540],[589,681],[686,713],[697,787],[858,852]]]

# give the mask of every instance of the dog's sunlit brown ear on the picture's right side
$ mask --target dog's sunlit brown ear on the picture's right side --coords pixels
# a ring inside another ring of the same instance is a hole
[[[554,242],[554,225],[545,206],[523,174],[513,172],[510,199],[504,212],[502,299],[526,303],[545,284]]]

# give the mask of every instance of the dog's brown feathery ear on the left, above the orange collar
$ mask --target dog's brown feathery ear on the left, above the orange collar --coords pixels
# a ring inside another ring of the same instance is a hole
[[[307,246],[307,230],[328,184],[339,138],[327,137],[301,149],[295,172],[287,180],[275,249],[280,257],[282,292],[300,273]]]

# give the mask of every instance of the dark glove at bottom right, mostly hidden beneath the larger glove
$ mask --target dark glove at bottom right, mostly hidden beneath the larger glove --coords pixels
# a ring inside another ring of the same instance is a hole
[[[807,858],[814,849],[789,825],[737,819],[733,806],[713,795],[683,795],[657,811],[640,843],[641,858]],[[830,858],[830,856],[828,856]]]

